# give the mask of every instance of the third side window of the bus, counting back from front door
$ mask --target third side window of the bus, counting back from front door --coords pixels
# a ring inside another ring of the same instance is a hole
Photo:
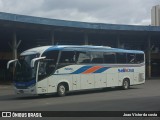
[[[91,52],[91,63],[103,63],[103,53]]]

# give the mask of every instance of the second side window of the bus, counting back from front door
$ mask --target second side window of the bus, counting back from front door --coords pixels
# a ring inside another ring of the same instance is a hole
[[[90,63],[90,54],[88,52],[77,51],[76,52],[77,63]]]

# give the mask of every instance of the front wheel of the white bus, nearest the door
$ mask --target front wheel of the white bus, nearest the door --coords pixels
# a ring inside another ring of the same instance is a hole
[[[64,84],[59,84],[57,87],[57,95],[59,97],[66,95],[66,86]]]

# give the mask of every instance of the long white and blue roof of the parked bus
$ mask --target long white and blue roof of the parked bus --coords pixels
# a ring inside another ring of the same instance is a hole
[[[29,50],[26,50],[21,53],[21,55],[29,55],[29,54],[42,54],[44,51],[51,51],[51,50],[80,50],[80,51],[103,51],[103,52],[122,52],[122,53],[141,53],[144,54],[143,51],[140,50],[126,50],[126,49],[119,49],[119,48],[111,48],[108,46],[92,46],[92,45],[54,45],[54,46],[42,46],[36,47]]]

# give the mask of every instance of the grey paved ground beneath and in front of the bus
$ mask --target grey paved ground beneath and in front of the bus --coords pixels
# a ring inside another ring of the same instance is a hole
[[[160,80],[147,80],[129,90],[107,89],[70,93],[65,97],[14,94],[0,86],[0,111],[160,111]]]

